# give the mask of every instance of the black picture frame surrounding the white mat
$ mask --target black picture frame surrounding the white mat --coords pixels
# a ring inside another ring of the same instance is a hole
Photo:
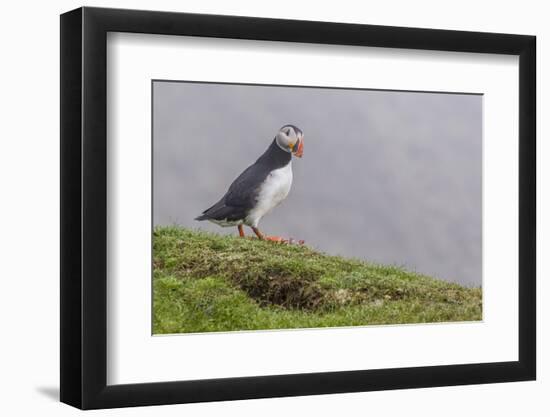
[[[519,56],[519,360],[107,385],[108,32]],[[534,36],[156,11],[61,15],[61,401],[82,409],[533,380],[536,376]]]

